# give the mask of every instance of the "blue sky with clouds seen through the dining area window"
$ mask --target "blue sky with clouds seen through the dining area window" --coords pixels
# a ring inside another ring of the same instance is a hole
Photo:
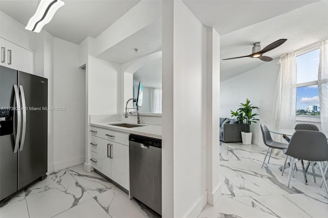
[[[318,80],[319,49],[296,57],[297,83]],[[308,109],[309,105],[319,105],[318,85],[297,88],[296,108]]]

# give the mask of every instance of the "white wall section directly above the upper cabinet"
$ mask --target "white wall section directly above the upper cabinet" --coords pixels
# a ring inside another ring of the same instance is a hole
[[[30,49],[29,31],[6,13],[0,11],[0,36],[21,46]]]

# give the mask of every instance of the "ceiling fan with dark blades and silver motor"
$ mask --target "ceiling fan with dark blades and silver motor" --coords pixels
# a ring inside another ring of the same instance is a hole
[[[282,38],[278,39],[277,41],[272,42],[269,46],[265,47],[262,49],[262,42],[255,42],[253,43],[253,48],[252,48],[252,54],[246,55],[246,56],[240,56],[240,57],[232,57],[232,58],[227,58],[227,59],[222,59],[222,60],[230,60],[230,59],[236,59],[236,58],[242,58],[242,57],[253,57],[253,58],[259,58],[260,60],[263,61],[272,61],[272,57],[268,56],[263,56],[265,52],[269,52],[279,46],[281,46],[287,39]]]

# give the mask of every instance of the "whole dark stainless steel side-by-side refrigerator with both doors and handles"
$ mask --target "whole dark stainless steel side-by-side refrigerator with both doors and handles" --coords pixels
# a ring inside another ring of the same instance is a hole
[[[47,173],[48,81],[0,66],[0,201]]]

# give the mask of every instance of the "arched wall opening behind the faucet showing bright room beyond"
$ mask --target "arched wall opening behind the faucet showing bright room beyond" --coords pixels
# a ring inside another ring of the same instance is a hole
[[[158,58],[133,74],[133,98],[138,97],[139,82],[144,86],[139,113],[162,113],[162,59]],[[135,103],[134,103],[135,106]]]

